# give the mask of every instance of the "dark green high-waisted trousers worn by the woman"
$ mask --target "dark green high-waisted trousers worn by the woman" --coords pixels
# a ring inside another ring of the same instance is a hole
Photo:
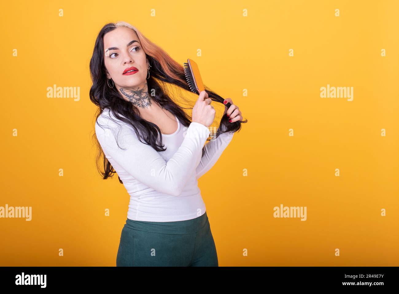
[[[187,221],[126,219],[117,266],[219,266],[206,212]]]

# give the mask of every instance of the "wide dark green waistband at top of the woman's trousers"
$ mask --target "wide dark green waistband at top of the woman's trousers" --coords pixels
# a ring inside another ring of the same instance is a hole
[[[188,219],[186,221],[175,222],[148,222],[148,221],[134,221],[126,219],[124,226],[133,230],[140,230],[145,232],[161,233],[161,234],[194,234],[198,232],[208,221],[206,211],[200,217],[195,219]]]

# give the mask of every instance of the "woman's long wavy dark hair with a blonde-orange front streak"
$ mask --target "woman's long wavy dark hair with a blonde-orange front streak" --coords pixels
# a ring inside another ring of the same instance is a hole
[[[108,32],[119,27],[127,27],[134,30],[138,36],[142,49],[146,53],[146,57],[151,65],[150,77],[147,79],[148,94],[155,93],[154,96],[151,95],[152,101],[158,103],[158,105],[176,115],[182,125],[188,127],[191,123],[190,117],[183,111],[183,109],[192,109],[192,107],[184,108],[177,105],[175,101],[170,98],[170,92],[168,90],[169,85],[174,85],[177,86],[177,89],[180,88],[191,92],[184,75],[183,66],[173,60],[164,50],[162,50],[162,48],[148,40],[138,29],[126,22],[109,23],[103,26],[94,45],[93,56],[90,60],[90,74],[93,85],[90,88],[89,95],[90,100],[98,106],[96,122],[103,111],[112,111],[115,118],[128,123],[134,129],[140,141],[145,141],[156,151],[165,151],[166,149],[162,144],[162,135],[159,127],[156,124],[143,119],[135,105],[130,101],[123,99],[116,87],[111,88],[107,84],[108,80],[106,75],[107,70],[104,64],[103,37]],[[205,91],[213,101],[223,104],[224,99],[211,91],[207,86],[205,86]],[[182,98],[184,99],[183,96]],[[187,99],[184,100],[189,103]],[[109,110],[103,110],[105,108],[108,108]],[[239,129],[241,129],[241,122],[247,122],[247,120],[245,120],[230,123],[228,120],[227,115],[223,115],[217,131],[211,131],[211,135],[218,137],[221,133],[239,131]],[[103,179],[112,177],[116,172],[107,157],[105,157],[95,133],[93,139],[95,139],[99,151],[96,159],[97,169],[103,176]],[[209,139],[210,138],[207,140]],[[159,145],[157,144],[157,140],[160,142]],[[203,155],[204,149],[202,149],[202,156]],[[100,167],[103,167],[103,169]],[[120,178],[119,182],[122,183]]]

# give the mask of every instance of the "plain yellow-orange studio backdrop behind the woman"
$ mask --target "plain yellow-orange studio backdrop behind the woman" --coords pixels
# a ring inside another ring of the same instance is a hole
[[[0,206],[32,206],[32,221],[0,219],[0,265],[115,266],[129,196],[95,168],[89,61],[101,27],[121,20],[179,63],[195,60],[248,119],[199,180],[219,266],[398,266],[398,10],[397,1],[4,2]],[[80,101],[47,98],[53,84],[80,87]],[[320,98],[327,84],[354,87],[353,101]],[[280,204],[306,206],[307,220],[274,218]]]

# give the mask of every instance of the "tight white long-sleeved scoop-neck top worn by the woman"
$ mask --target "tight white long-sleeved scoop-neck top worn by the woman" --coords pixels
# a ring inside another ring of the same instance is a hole
[[[209,141],[201,158],[209,128],[197,122],[185,127],[178,117],[176,120],[178,129],[172,134],[162,134],[166,151],[159,152],[142,143],[134,129],[109,109],[97,119],[105,125],[104,129],[96,121],[97,139],[130,195],[128,219],[185,221],[205,213],[198,179],[219,159],[234,133],[222,133]]]

